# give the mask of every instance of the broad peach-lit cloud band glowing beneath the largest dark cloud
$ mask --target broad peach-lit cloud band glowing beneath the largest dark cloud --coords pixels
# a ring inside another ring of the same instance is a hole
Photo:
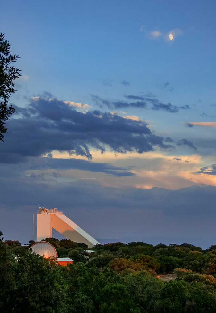
[[[137,152],[127,153],[126,155],[114,155],[111,151],[105,151],[104,154],[101,154],[99,151],[90,152],[94,162],[106,162],[113,166],[129,166],[130,172],[134,174],[127,177],[127,179],[123,179],[122,177],[115,177],[113,179],[110,175],[97,173],[94,176],[95,181],[102,186],[116,188],[132,187],[138,189],[151,189],[152,187],[179,189],[195,184],[216,186],[216,180],[212,177],[193,175],[192,172],[197,171],[204,162],[198,154],[168,156],[157,151],[149,151],[141,155]],[[59,152],[53,152],[53,156],[63,157]],[[80,156],[74,157],[81,159]],[[68,172],[67,175],[69,175]],[[73,171],[73,178],[75,177],[74,175],[78,177],[79,172]],[[91,176],[90,173],[89,176]]]

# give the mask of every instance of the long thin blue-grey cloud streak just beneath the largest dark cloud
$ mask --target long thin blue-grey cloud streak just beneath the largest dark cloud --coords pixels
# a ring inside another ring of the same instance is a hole
[[[30,170],[69,170],[77,169],[89,172],[103,172],[113,176],[124,177],[124,176],[136,176],[134,173],[129,172],[131,167],[117,167],[108,163],[95,163],[86,160],[79,160],[73,158],[61,159],[61,158],[50,158],[40,157],[37,163],[30,166]],[[57,177],[56,173],[53,173],[53,177]]]

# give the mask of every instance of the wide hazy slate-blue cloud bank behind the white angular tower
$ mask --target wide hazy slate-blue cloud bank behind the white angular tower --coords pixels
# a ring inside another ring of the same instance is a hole
[[[96,239],[126,235],[173,243],[175,233],[180,243],[198,242],[206,248],[214,244],[216,187],[114,188],[95,180],[58,183],[22,173],[0,177],[0,185],[1,230],[5,239],[23,244],[32,238],[32,214],[39,206],[57,207]]]

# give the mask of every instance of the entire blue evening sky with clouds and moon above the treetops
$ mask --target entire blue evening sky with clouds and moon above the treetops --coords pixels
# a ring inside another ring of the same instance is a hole
[[[32,239],[44,206],[101,243],[215,244],[215,1],[1,9],[22,70],[0,143],[5,239]]]

